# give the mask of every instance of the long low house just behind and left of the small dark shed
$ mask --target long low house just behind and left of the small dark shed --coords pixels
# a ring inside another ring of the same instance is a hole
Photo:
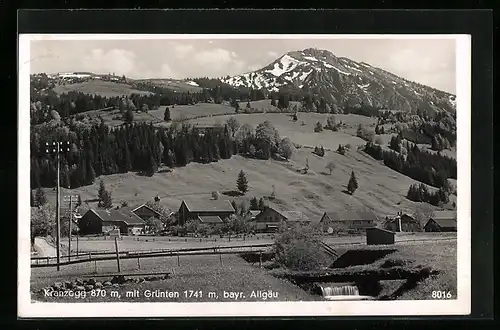
[[[374,227],[378,222],[377,216],[372,212],[329,211],[323,213],[320,225],[324,232],[333,233],[339,230],[361,230]]]

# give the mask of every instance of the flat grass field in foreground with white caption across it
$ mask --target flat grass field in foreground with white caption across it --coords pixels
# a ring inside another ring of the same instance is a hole
[[[267,274],[264,269],[254,267],[243,259],[235,255],[222,256],[221,265],[218,256],[190,256],[181,257],[180,266],[177,266],[177,258],[155,258],[141,260],[141,270],[137,269],[137,261],[123,260],[122,271],[126,272],[145,272],[145,271],[167,271],[175,272],[172,278],[155,282],[127,283],[118,288],[107,290],[107,296],[102,298],[90,297],[87,294],[85,299],[76,299],[73,297],[44,297],[43,294],[32,294],[32,299],[46,302],[207,302],[207,301],[263,301],[259,297],[251,297],[252,291],[272,290],[277,292],[278,298],[270,300],[279,301],[300,301],[300,300],[319,300],[321,297],[313,296],[303,291],[299,287],[289,283],[286,280],[278,279]],[[74,280],[79,275],[89,272],[90,266],[73,265],[64,267],[60,274],[53,269],[33,269],[31,272],[31,290],[37,291],[45,286],[51,285],[56,281]],[[92,266],[93,267],[93,266]],[[106,261],[98,263],[100,273],[116,272],[116,261]],[[178,292],[179,297],[174,299],[166,298],[148,298],[145,297],[146,290],[161,290]],[[121,298],[111,297],[110,291],[117,290]],[[126,297],[126,292],[139,290],[140,297]],[[184,291],[194,290],[202,291],[202,297],[186,297]],[[234,298],[224,298],[224,291],[242,292],[243,297],[238,300]],[[215,292],[216,298],[209,298],[208,293]]]

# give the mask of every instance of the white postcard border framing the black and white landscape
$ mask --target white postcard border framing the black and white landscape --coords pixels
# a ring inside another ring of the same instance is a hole
[[[202,317],[202,316],[407,316],[467,315],[471,311],[470,203],[470,35],[147,35],[24,34],[19,36],[18,201],[30,194],[30,42],[32,40],[130,39],[455,39],[457,100],[457,299],[338,302],[208,303],[33,303],[30,295],[30,207],[18,203],[18,316],[43,317]]]

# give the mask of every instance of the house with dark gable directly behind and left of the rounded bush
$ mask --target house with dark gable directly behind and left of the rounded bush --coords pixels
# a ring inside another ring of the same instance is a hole
[[[255,217],[255,229],[258,232],[276,232],[291,227],[308,225],[309,220],[299,211],[279,211],[267,207]]]

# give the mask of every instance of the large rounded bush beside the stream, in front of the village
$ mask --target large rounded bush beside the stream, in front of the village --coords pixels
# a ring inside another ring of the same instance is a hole
[[[311,228],[286,230],[275,241],[276,261],[296,271],[320,270],[329,262],[320,242],[318,233]]]

